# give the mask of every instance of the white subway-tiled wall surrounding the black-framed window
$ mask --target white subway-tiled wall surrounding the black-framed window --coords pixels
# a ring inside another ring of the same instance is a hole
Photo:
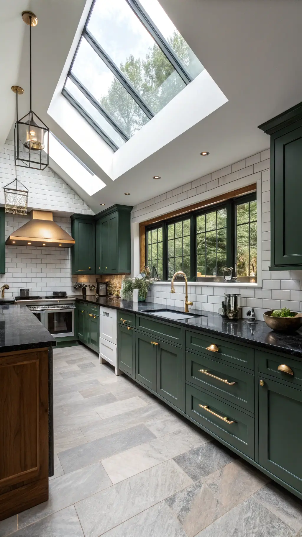
[[[223,192],[232,191],[241,186],[257,183],[258,261],[262,256],[262,284],[255,287],[224,287],[220,284],[207,285],[194,282],[189,284],[189,300],[193,308],[218,311],[225,292],[240,293],[242,313],[255,308],[256,317],[262,320],[264,311],[288,307],[293,311],[302,311],[302,271],[272,271],[270,265],[270,159],[269,149],[249,156],[240,162],[230,164],[223,170],[217,170],[205,177],[196,179],[182,187],[175,188],[156,198],[145,201],[132,209],[132,226],[139,221],[165,214],[167,211],[185,207],[197,201],[215,197]],[[261,197],[259,195],[261,193]],[[261,220],[261,221],[260,221]],[[137,263],[137,260],[134,260]],[[153,284],[148,293],[148,300],[167,306],[183,306],[185,286],[175,285],[175,294],[170,293],[171,284],[160,282]],[[301,288],[301,291],[300,291]]]

